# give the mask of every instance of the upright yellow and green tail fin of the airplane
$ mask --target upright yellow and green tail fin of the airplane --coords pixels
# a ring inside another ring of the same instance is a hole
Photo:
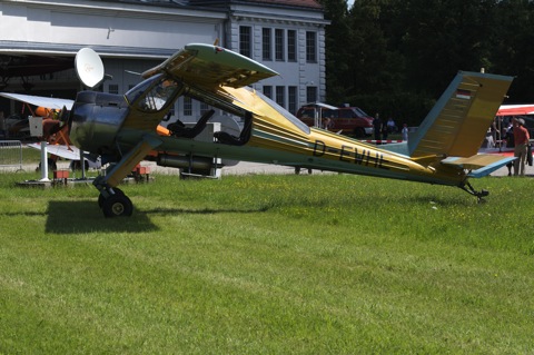
[[[476,155],[512,80],[505,76],[458,72],[409,137],[409,156]]]

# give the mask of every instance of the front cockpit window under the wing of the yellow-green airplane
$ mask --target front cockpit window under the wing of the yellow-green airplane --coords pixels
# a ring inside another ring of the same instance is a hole
[[[142,111],[157,112],[174,101],[182,86],[172,79],[157,75],[140,82],[126,93],[130,105]]]

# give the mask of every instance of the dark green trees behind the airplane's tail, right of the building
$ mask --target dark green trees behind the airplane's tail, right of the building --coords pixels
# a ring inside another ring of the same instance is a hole
[[[322,0],[327,101],[402,118],[427,111],[398,106],[436,100],[458,70],[516,76],[508,102],[534,91],[534,3],[524,0]],[[372,102],[358,99],[374,98]],[[365,105],[364,105],[365,103]]]

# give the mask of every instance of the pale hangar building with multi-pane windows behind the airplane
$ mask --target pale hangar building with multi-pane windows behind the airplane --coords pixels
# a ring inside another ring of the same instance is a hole
[[[185,45],[218,41],[279,72],[254,87],[295,114],[325,97],[327,24],[315,0],[0,0],[0,90],[73,99],[82,89],[73,69],[47,65],[72,68],[90,47],[112,77],[100,89],[123,93]],[[11,63],[42,70],[26,76]],[[180,98],[174,112],[191,121],[206,109]]]

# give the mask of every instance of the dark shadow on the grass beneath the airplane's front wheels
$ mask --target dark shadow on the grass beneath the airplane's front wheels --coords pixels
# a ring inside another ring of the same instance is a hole
[[[95,200],[49,201],[46,233],[77,234],[77,233],[148,233],[160,228],[150,220],[151,215],[198,214],[210,215],[220,213],[251,214],[266,211],[258,209],[227,209],[227,208],[154,208],[135,209],[131,217],[105,218]]]

